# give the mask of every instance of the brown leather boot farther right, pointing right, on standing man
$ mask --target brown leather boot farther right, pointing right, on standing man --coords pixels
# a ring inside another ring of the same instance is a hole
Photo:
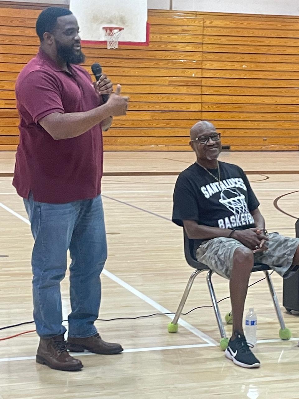
[[[88,350],[98,355],[116,355],[123,351],[120,344],[105,342],[98,334],[87,338],[69,337],[67,339],[67,349],[71,352],[84,352],[84,350]]]

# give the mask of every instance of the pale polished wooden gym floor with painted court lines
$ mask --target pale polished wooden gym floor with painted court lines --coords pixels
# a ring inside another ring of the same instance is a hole
[[[299,209],[298,152],[223,152],[221,160],[248,172],[269,231],[294,237]],[[183,256],[182,231],[171,223],[176,173],[194,161],[192,152],[106,152],[103,201],[109,245],[102,274],[100,318],[174,312],[193,271]],[[0,152],[0,328],[32,320],[30,256],[33,239],[27,215],[12,187],[13,152]],[[254,273],[250,282],[263,278]],[[272,275],[282,304],[282,279]],[[217,299],[228,296],[228,281],[213,277]],[[62,284],[63,313],[69,312],[68,278]],[[197,277],[184,312],[210,305],[203,275]],[[220,304],[222,316],[230,301]],[[35,332],[0,342],[0,399],[168,399],[298,398],[299,320],[283,314],[293,333],[278,338],[279,325],[266,281],[248,290],[246,312],[258,316],[254,352],[260,369],[242,369],[218,348],[212,308],[183,316],[179,332],[167,333],[167,316],[97,321],[105,340],[125,348],[117,356],[81,354],[78,373],[35,363]],[[34,324],[0,331],[0,338]],[[229,336],[231,326],[226,331]]]

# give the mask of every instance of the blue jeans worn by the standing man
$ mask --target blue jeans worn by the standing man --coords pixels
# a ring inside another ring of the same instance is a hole
[[[32,252],[33,315],[37,334],[64,334],[60,282],[71,254],[69,337],[97,333],[101,298],[100,273],[107,258],[102,198],[50,204],[24,199],[35,239]]]

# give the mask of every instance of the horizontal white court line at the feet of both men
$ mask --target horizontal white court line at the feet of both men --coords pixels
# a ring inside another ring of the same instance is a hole
[[[297,341],[299,338],[291,338],[289,341]],[[273,340],[258,340],[258,344],[268,344],[272,342],[283,342],[280,339],[273,339]],[[154,352],[154,351],[161,351],[161,350],[175,350],[175,349],[191,349],[191,348],[208,348],[214,346],[212,344],[191,344],[191,345],[173,345],[173,346],[156,346],[156,347],[149,347],[149,348],[131,348],[125,349],[122,353],[134,353],[134,352]],[[91,356],[95,355],[91,352],[79,352],[73,353],[75,358],[79,356]],[[0,358],[0,363],[5,363],[9,361],[23,361],[23,360],[35,360],[35,356],[23,356],[19,358]]]

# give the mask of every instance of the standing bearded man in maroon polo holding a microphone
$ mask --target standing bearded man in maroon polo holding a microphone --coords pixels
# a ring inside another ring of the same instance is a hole
[[[100,307],[100,273],[107,257],[102,208],[102,129],[126,115],[128,97],[102,75],[92,84],[79,64],[79,26],[71,11],[47,8],[39,15],[39,53],[16,83],[20,144],[13,184],[24,198],[35,239],[33,307],[40,336],[36,360],[58,370],[79,370],[67,349],[96,354],[122,352],[104,342],[94,326]],[[106,104],[101,95],[109,94]],[[62,326],[60,282],[71,254],[68,341]]]

